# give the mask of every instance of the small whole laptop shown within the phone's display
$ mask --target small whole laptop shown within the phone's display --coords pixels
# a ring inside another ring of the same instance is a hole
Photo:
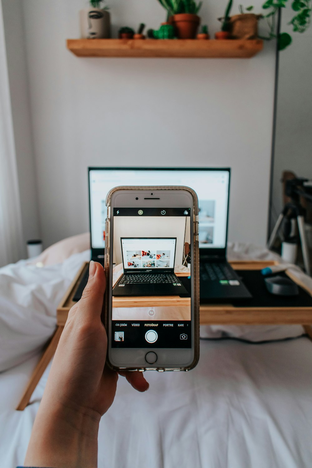
[[[121,237],[120,241],[123,275],[113,296],[188,294],[174,274],[176,237]]]

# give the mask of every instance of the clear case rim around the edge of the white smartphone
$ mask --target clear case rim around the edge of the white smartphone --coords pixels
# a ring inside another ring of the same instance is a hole
[[[153,370],[157,370],[160,372],[163,371],[173,371],[173,370],[181,370],[181,371],[189,371],[196,366],[199,360],[199,250],[198,250],[198,198],[196,192],[186,186],[168,186],[168,185],[159,185],[159,186],[119,186],[115,187],[114,189],[110,190],[106,197],[106,206],[107,206],[107,218],[106,218],[106,225],[105,225],[105,260],[104,260],[104,269],[106,275],[106,282],[107,285],[109,284],[109,256],[110,256],[110,207],[111,207],[111,197],[113,193],[117,190],[186,190],[189,192],[193,199],[193,242],[194,242],[194,258],[192,262],[194,264],[194,275],[193,275],[193,284],[194,284],[194,360],[192,364],[188,367],[157,367]],[[103,313],[102,313],[102,322],[105,325],[106,330],[109,330],[109,302],[111,300],[111,294],[106,291],[104,303],[103,303]],[[109,353],[107,353],[107,356]],[[107,364],[111,369],[116,371],[121,370],[119,367],[112,366],[107,358]],[[129,367],[127,369],[123,368],[122,370],[129,370],[129,371],[145,371],[146,369],[150,369],[148,365],[145,367]]]

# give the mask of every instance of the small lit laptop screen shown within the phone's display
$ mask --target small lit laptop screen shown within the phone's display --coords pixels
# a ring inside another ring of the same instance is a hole
[[[176,237],[122,237],[123,269],[174,268]]]

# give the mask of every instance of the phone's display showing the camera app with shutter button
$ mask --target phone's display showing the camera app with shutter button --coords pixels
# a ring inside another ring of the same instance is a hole
[[[114,208],[112,347],[191,347],[190,208]]]

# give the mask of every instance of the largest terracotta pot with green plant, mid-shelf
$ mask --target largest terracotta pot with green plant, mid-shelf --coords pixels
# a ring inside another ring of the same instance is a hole
[[[194,0],[159,0],[167,10],[167,20],[174,25],[179,39],[194,39],[200,23],[199,12],[202,1]]]

